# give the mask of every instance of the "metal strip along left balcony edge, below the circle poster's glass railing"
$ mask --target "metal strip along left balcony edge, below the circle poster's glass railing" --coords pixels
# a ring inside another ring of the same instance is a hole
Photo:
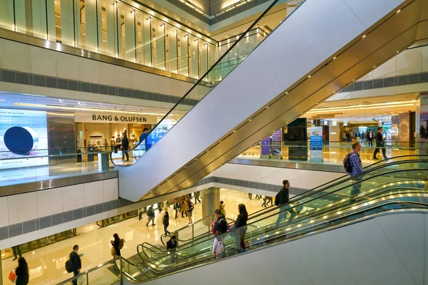
[[[118,172],[116,170],[112,170],[108,172],[91,173],[86,175],[52,178],[48,180],[29,182],[29,183],[19,184],[19,185],[8,185],[8,186],[0,187],[0,197],[17,195],[17,194],[39,191],[39,190],[46,190],[46,189],[57,188],[57,187],[78,185],[78,184],[100,181],[100,180],[108,180],[108,179],[113,179],[117,177],[118,177]]]

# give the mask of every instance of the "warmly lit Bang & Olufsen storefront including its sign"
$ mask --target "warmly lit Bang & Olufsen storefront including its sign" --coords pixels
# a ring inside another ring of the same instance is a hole
[[[76,113],[77,147],[93,147],[95,151],[113,150],[118,135],[127,133],[129,148],[138,143],[144,128],[151,130],[158,122],[153,115],[135,113]]]

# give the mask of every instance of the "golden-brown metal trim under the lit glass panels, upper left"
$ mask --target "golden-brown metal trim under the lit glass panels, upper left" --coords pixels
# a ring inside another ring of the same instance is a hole
[[[185,81],[195,84],[196,79],[190,78],[187,76],[182,76],[180,74],[171,73],[169,71],[163,71],[158,68],[153,68],[149,66],[143,66],[138,63],[133,63],[131,61],[125,61],[120,58],[113,58],[111,56],[106,56],[101,53],[95,53],[92,51],[86,51],[81,48],[75,48],[73,46],[66,46],[61,43],[56,43],[54,41],[48,41],[44,38],[36,38],[35,36],[29,36],[24,33],[16,33],[14,31],[6,30],[5,28],[0,28],[0,38],[4,38],[9,41],[16,41],[19,43],[29,44],[31,46],[38,46],[39,48],[46,48],[52,51],[58,51],[60,53],[67,53],[72,56],[79,56],[81,58],[93,59],[94,61],[101,61],[104,63],[110,63],[115,66],[122,66],[125,68],[131,68],[136,71],[143,71],[147,73],[156,74],[158,76],[164,76],[168,78],[173,78],[179,81]]]

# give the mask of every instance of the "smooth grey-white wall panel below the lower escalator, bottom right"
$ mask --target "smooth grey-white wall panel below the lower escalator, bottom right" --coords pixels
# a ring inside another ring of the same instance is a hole
[[[389,214],[146,284],[428,284],[425,216]]]

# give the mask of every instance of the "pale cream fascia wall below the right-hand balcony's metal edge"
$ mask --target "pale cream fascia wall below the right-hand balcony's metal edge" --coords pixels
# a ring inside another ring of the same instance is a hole
[[[253,165],[235,165],[232,163],[226,163],[222,167],[212,172],[210,175],[215,177],[269,183],[273,185],[282,185],[282,180],[289,180],[291,187],[310,190],[342,177],[345,174],[337,172],[298,170],[292,168]],[[235,186],[232,189],[248,192],[241,188],[243,187]]]

